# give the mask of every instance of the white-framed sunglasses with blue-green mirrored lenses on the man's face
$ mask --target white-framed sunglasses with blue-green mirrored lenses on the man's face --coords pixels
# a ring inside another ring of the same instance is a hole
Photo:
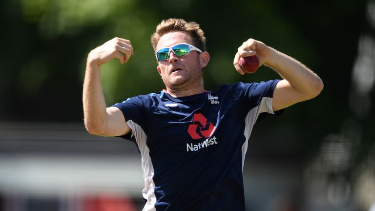
[[[176,56],[182,57],[184,55],[187,55],[191,50],[196,50],[196,51],[202,53],[202,51],[195,46],[192,46],[192,45],[187,44],[187,43],[179,43],[179,44],[173,45],[172,47],[159,49],[156,52],[156,59],[158,61],[163,61],[163,60],[169,59],[169,52],[170,51],[172,51]]]

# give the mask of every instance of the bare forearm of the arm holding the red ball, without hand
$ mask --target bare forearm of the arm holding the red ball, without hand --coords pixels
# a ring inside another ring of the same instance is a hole
[[[306,98],[317,96],[323,89],[322,80],[312,70],[273,48],[265,64],[278,72],[297,91],[306,95]]]

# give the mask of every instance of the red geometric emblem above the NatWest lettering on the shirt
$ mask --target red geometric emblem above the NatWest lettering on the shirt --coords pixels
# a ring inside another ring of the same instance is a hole
[[[193,124],[187,128],[187,132],[193,139],[200,139],[203,136],[208,138],[214,130],[215,126],[207,122],[207,118],[200,113],[193,115]]]

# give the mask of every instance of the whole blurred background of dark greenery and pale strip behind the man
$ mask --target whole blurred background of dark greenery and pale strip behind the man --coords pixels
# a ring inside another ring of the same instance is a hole
[[[83,76],[90,50],[122,37],[134,55],[102,67],[106,104],[162,90],[149,37],[167,18],[205,31],[206,90],[279,78],[267,67],[236,73],[249,38],[324,82],[317,98],[254,127],[247,210],[375,210],[374,0],[2,0],[0,211],[142,209],[135,145],[84,129]]]

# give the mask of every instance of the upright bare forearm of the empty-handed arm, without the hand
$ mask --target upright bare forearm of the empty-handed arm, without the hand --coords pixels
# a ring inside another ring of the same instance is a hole
[[[104,100],[100,66],[87,59],[83,82],[84,125],[89,133],[100,134],[105,127],[106,105]]]

